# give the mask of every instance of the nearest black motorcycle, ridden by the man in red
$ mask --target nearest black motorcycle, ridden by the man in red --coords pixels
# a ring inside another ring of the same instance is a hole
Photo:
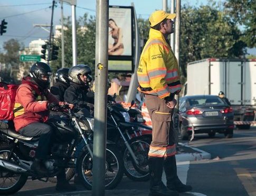
[[[14,128],[0,129],[0,194],[13,194],[19,191],[28,177],[32,180],[48,181],[62,168],[77,166],[79,178],[84,187],[92,188],[92,135],[93,119],[74,113],[68,105],[61,106],[62,116],[49,119],[49,124],[55,127],[56,143],[51,147],[51,154],[44,162],[48,174],[37,175],[31,170],[38,140],[18,134]],[[74,149],[84,141],[85,146],[77,159]],[[106,148],[106,189],[112,189],[121,181],[124,168],[121,155],[113,142],[107,141]],[[88,174],[89,173],[89,174]]]

